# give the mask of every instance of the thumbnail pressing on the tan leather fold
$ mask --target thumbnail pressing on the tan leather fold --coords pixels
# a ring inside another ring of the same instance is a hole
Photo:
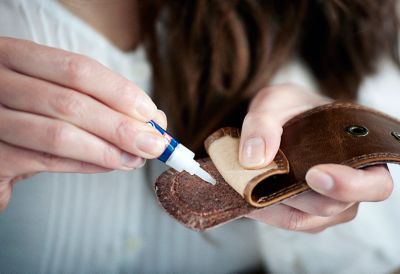
[[[244,167],[257,167],[265,162],[265,142],[262,138],[248,139],[242,148],[241,163]]]

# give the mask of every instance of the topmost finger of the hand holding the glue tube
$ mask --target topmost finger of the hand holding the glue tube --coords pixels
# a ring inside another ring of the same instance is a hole
[[[83,55],[7,38],[0,58],[15,71],[79,90],[140,121],[156,115],[157,107],[138,86]]]

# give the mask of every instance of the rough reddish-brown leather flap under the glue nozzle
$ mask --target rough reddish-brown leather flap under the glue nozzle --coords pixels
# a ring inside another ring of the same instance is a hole
[[[158,201],[173,218],[190,229],[201,231],[256,209],[225,182],[210,158],[198,162],[216,179],[215,186],[173,169],[165,171],[156,181]]]

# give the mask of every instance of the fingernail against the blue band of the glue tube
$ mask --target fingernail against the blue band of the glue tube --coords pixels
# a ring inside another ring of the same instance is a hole
[[[150,156],[157,157],[164,151],[165,144],[161,135],[140,132],[136,137],[136,147]]]

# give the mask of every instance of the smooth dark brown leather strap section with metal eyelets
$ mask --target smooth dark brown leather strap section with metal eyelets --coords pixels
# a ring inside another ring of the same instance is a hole
[[[362,126],[366,136],[351,135],[350,126]],[[281,150],[291,171],[285,182],[290,194],[306,190],[307,170],[317,164],[337,163],[354,168],[400,162],[400,142],[392,132],[400,121],[370,108],[333,103],[300,114],[283,127]],[[286,186],[283,189],[286,189]]]

